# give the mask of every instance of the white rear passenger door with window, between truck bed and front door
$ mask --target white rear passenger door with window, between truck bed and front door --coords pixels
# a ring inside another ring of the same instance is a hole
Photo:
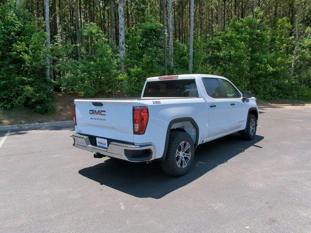
[[[207,95],[208,138],[229,132],[230,108],[217,78],[202,78]]]

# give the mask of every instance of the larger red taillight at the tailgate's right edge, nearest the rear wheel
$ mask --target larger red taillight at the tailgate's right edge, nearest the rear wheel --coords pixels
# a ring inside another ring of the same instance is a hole
[[[133,132],[144,134],[147,128],[149,112],[147,107],[133,107]]]

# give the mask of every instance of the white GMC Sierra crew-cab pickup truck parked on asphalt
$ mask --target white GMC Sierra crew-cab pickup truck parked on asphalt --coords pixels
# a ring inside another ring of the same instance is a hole
[[[180,176],[199,144],[236,132],[253,139],[258,108],[224,77],[187,74],[148,78],[140,98],[74,100],[72,117],[74,147],[95,158],[159,160]]]

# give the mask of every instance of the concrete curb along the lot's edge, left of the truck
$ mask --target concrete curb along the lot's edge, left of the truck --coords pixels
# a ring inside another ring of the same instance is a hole
[[[33,123],[33,124],[20,124],[20,125],[4,125],[0,126],[0,131],[5,130],[30,130],[30,129],[42,129],[42,128],[62,128],[62,127],[72,127],[72,120],[66,121],[55,121],[55,122],[45,122],[45,123]]]

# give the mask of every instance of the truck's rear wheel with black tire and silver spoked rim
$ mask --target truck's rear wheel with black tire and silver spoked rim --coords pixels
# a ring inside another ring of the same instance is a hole
[[[194,143],[191,136],[185,132],[173,131],[170,133],[166,158],[161,162],[161,167],[171,176],[182,176],[189,171],[193,157]]]

